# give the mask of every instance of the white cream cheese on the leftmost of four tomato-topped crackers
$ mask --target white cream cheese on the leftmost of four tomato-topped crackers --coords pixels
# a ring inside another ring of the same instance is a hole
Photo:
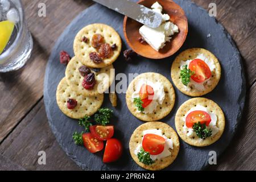
[[[154,97],[152,98],[152,102],[147,107],[145,107],[144,111],[143,111],[144,114],[152,114],[152,113],[154,113],[154,111],[158,105],[163,104],[164,97],[165,97],[164,86],[163,86],[162,82],[154,82],[153,83],[151,81],[141,79],[135,85],[135,92],[131,96],[132,102],[134,101],[134,98],[139,97],[139,90],[141,90],[141,86],[143,84],[151,86],[154,90]],[[140,112],[140,111],[138,111],[138,112]]]

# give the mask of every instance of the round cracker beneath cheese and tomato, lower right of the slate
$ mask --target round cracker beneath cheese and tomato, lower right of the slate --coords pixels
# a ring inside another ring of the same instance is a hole
[[[195,138],[189,138],[187,137],[186,133],[183,133],[183,126],[184,126],[183,117],[192,107],[195,107],[196,105],[207,107],[207,109],[210,112],[213,112],[214,114],[217,115],[216,126],[219,129],[217,134],[211,137],[208,137],[206,139],[201,139],[197,136]],[[196,147],[209,146],[210,144],[213,144],[218,139],[220,139],[222,133],[224,132],[225,116],[220,106],[218,106],[212,100],[209,100],[208,98],[203,98],[203,97],[192,98],[191,100],[184,102],[177,110],[177,113],[175,115],[175,127],[177,130],[177,133],[179,134],[180,138],[184,140],[184,142]]]

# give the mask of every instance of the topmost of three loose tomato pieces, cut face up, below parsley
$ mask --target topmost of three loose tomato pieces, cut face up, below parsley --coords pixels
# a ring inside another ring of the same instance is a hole
[[[98,140],[108,140],[114,135],[114,126],[90,126],[90,133]]]

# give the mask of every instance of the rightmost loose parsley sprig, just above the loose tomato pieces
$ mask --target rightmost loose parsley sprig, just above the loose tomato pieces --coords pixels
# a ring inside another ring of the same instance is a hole
[[[113,110],[108,108],[101,108],[94,115],[94,119],[98,124],[106,126],[109,123],[109,120],[112,116],[113,116]]]

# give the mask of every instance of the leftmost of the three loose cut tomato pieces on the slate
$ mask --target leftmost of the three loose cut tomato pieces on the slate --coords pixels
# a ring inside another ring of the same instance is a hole
[[[93,137],[91,133],[82,134],[82,140],[84,141],[85,148],[87,148],[89,152],[96,153],[104,148],[104,143]]]

